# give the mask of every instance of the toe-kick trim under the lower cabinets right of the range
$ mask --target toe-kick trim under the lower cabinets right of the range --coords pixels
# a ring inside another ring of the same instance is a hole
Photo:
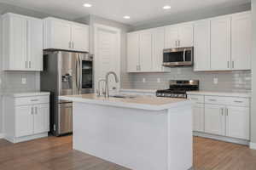
[[[234,144],[243,144],[243,145],[250,145],[248,140],[245,139],[235,139],[235,138],[230,138],[226,136],[219,136],[215,134],[209,134],[209,133],[201,133],[201,132],[193,132],[194,136],[199,136],[203,138],[208,138],[208,139],[216,139],[216,140],[221,140],[224,142],[230,142]],[[256,145],[255,145],[256,148]]]

